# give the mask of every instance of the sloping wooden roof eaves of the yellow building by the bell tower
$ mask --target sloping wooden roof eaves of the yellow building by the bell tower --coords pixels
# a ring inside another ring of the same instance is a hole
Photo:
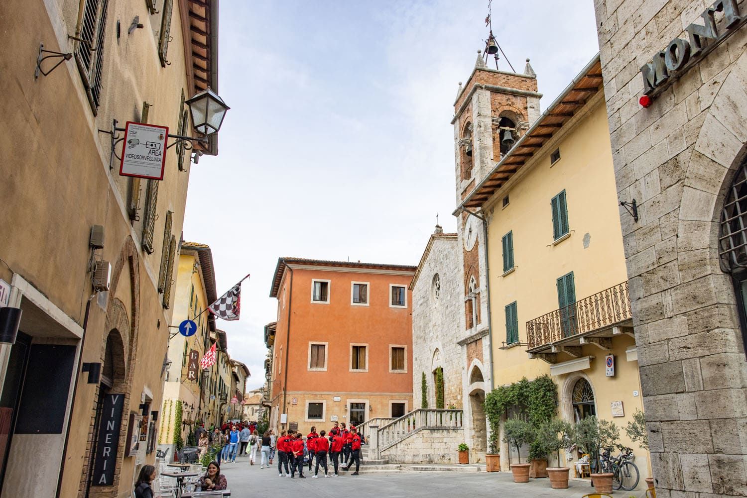
[[[514,157],[512,155],[512,151],[518,152],[518,150],[521,149],[522,147],[527,147],[527,145],[524,144],[524,141],[530,140],[532,138],[531,134],[533,134],[533,131],[536,131],[536,129],[538,128],[547,128],[547,127],[562,128],[562,125],[565,125],[565,122],[567,121],[567,119],[570,119],[570,118],[561,118],[562,122],[557,123],[557,125],[555,125],[554,123],[542,124],[542,122],[545,121],[545,119],[548,119],[548,118],[552,119],[554,117],[552,113],[556,111],[557,107],[561,104],[561,102],[563,102],[563,100],[568,98],[569,94],[573,93],[574,91],[578,91],[578,90],[583,91],[583,88],[579,89],[578,85],[589,83],[589,80],[586,79],[586,76],[589,74],[589,72],[592,69],[594,69],[595,66],[601,66],[601,63],[599,60],[599,52],[597,52],[597,54],[592,58],[592,60],[590,60],[589,63],[587,63],[586,66],[583,69],[581,69],[578,75],[576,75],[576,77],[573,78],[571,83],[568,84],[567,87],[565,87],[565,90],[563,90],[560,93],[560,95],[557,96],[557,98],[551,103],[551,105],[549,105],[548,108],[545,109],[545,112],[542,113],[542,116],[539,116],[539,118],[534,122],[533,125],[530,126],[530,128],[527,130],[524,136],[522,136],[514,144],[512,149],[509,150],[509,152],[506,155],[504,155],[503,158],[501,158],[498,164],[496,164],[493,167],[492,171],[489,172],[485,178],[483,178],[483,181],[480,181],[480,184],[477,184],[477,186],[472,190],[472,192],[464,200],[462,200],[462,203],[459,206],[457,206],[457,208],[453,211],[454,216],[458,215],[459,212],[464,210],[464,208],[482,207],[483,202],[485,202],[486,200],[490,199],[490,197],[492,197],[492,195],[495,193],[497,189],[493,189],[492,187],[486,187],[486,184],[492,179],[494,179],[492,177],[496,172],[505,171],[505,168],[503,166],[508,166],[508,165],[513,164],[513,163],[509,163],[509,160]],[[595,90],[593,91],[594,93],[599,91],[598,84],[597,84],[597,87],[595,87]],[[589,95],[589,97],[590,96],[591,95]],[[545,140],[550,140],[550,139],[545,139]],[[544,143],[545,141],[543,140],[543,144]],[[515,171],[516,169],[513,169],[513,170]],[[490,193],[487,199],[484,199],[485,194],[483,192],[485,190],[492,190],[492,192]]]

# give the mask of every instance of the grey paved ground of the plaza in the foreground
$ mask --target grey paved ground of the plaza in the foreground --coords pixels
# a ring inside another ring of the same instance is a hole
[[[308,470],[308,467],[306,468]],[[528,484],[515,484],[510,473],[487,472],[411,472],[363,473],[360,476],[341,476],[329,479],[279,477],[277,467],[261,469],[249,466],[245,457],[234,464],[221,466],[226,475],[232,498],[282,497],[350,497],[350,498],[433,498],[433,497],[500,497],[500,498],[580,498],[591,493],[588,482],[571,481],[566,490],[553,490],[548,479],[530,479]],[[631,493],[618,491],[616,497],[627,498]],[[639,496],[642,493],[635,493]]]

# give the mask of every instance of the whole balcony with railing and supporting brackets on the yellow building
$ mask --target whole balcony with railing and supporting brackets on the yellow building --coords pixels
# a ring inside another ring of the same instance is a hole
[[[633,336],[627,281],[528,321],[527,352],[556,363],[561,352],[580,357],[586,344],[611,349],[612,338],[620,334]]]

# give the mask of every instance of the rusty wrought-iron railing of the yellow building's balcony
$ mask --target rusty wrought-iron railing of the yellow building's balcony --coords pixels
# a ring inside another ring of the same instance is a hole
[[[632,318],[627,280],[574,304],[527,322],[527,343],[534,349],[558,340],[613,326]]]

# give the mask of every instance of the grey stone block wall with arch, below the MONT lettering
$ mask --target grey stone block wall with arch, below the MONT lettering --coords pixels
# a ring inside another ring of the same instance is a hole
[[[710,5],[595,0],[617,190],[639,205],[639,222],[624,211],[621,221],[653,474],[665,498],[747,496],[747,363],[717,249],[747,140],[747,29],[691,57],[651,107],[639,105],[640,68],[675,38],[688,40],[685,28],[703,25]],[[747,5],[738,10],[744,16]],[[722,34],[723,14],[714,15]]]

